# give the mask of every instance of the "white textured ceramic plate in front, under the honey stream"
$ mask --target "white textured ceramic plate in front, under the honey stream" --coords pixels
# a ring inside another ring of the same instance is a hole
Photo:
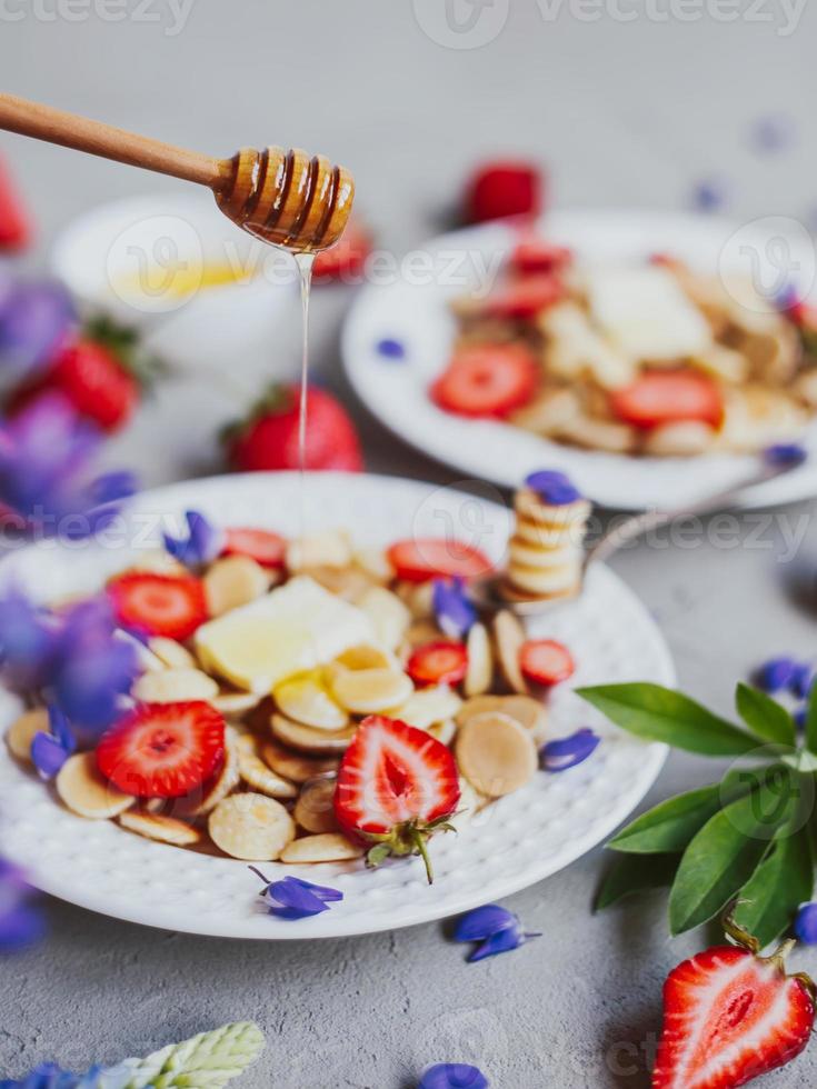
[[[299,532],[296,473],[220,477],[142,496],[120,537],[108,547],[41,544],[0,565],[0,587],[23,586],[42,601],[96,590],[140,549],[178,528],[196,508],[222,524],[259,524]],[[476,506],[475,506],[476,503]],[[502,558],[509,514],[462,492],[386,477],[308,477],[305,516],[313,528],[347,526],[361,542],[450,532]],[[664,639],[634,595],[607,569],[595,568],[584,597],[531,625],[564,639],[578,660],[576,682],[674,680]],[[0,689],[0,732],[20,710]],[[488,807],[458,836],[431,845],[437,878],[426,883],[419,860],[367,871],[341,866],[262,866],[342,889],[345,900],[312,919],[288,922],[265,912],[246,865],[153,843],[110,821],[72,816],[33,773],[0,746],[2,852],[27,867],[32,882],[81,907],[133,922],[231,938],[317,938],[395,929],[450,916],[548,877],[607,837],[655,781],[665,747],[644,745],[606,723],[566,686],[551,698],[551,736],[592,725],[602,743],[586,763],[537,775],[524,790]]]

